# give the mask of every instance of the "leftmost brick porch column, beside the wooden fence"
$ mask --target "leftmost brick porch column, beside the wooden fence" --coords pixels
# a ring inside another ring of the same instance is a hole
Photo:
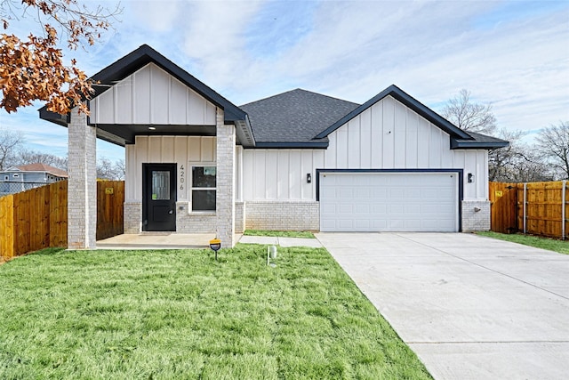
[[[87,116],[71,111],[68,124],[68,248],[97,247],[96,129]]]

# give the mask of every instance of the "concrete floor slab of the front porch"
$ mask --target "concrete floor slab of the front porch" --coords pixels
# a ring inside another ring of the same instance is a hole
[[[236,236],[236,241],[241,236]],[[144,232],[117,235],[97,241],[97,249],[188,249],[208,248],[214,233]],[[221,242],[223,247],[223,242]]]

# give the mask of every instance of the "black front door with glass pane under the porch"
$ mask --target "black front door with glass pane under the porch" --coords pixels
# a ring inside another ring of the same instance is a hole
[[[142,164],[142,230],[176,230],[176,164]]]

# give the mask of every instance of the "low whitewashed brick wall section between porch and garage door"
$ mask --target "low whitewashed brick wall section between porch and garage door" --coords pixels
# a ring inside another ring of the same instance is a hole
[[[245,202],[248,230],[320,230],[320,208],[313,201]]]

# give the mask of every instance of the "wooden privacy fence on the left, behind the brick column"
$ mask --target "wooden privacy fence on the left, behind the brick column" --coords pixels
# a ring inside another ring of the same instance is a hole
[[[97,182],[97,239],[123,233],[124,181]],[[0,198],[0,256],[68,246],[68,182]]]

